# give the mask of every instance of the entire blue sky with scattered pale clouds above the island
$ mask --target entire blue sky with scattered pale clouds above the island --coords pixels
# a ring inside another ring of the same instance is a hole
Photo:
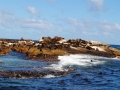
[[[0,38],[45,36],[120,45],[120,0],[0,0]]]

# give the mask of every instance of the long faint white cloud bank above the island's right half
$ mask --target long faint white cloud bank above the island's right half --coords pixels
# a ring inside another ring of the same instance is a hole
[[[87,31],[94,31],[94,30],[104,30],[104,31],[118,31],[120,30],[120,24],[118,23],[109,23],[106,20],[103,21],[92,21],[89,19],[83,19],[78,21],[74,18],[69,18],[66,20],[67,24],[74,26],[76,29],[79,30],[87,30]]]

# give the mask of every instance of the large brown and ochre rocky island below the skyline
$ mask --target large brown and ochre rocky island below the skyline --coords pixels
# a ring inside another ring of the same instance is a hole
[[[65,40],[55,36],[42,37],[39,41],[0,39],[0,55],[9,54],[10,51],[26,54],[25,59],[59,61],[59,55],[69,54],[91,54],[103,57],[120,56],[120,50],[110,47],[108,44],[85,41],[82,39]]]

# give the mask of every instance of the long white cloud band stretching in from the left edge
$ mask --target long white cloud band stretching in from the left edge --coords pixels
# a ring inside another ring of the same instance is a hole
[[[20,27],[20,28],[32,28],[39,30],[53,29],[53,25],[43,20],[31,19],[31,18],[15,18],[9,14],[0,12],[0,25],[3,27]]]

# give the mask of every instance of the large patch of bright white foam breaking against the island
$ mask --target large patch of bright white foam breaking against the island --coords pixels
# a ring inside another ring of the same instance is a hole
[[[103,64],[105,61],[104,57],[99,56],[92,56],[92,55],[84,55],[84,54],[77,54],[77,55],[64,55],[59,56],[58,59],[60,60],[57,64],[51,64],[49,69],[54,70],[68,70],[72,69],[71,66],[77,65],[77,66],[92,66],[92,65],[98,65]],[[64,67],[68,67],[67,69]]]

